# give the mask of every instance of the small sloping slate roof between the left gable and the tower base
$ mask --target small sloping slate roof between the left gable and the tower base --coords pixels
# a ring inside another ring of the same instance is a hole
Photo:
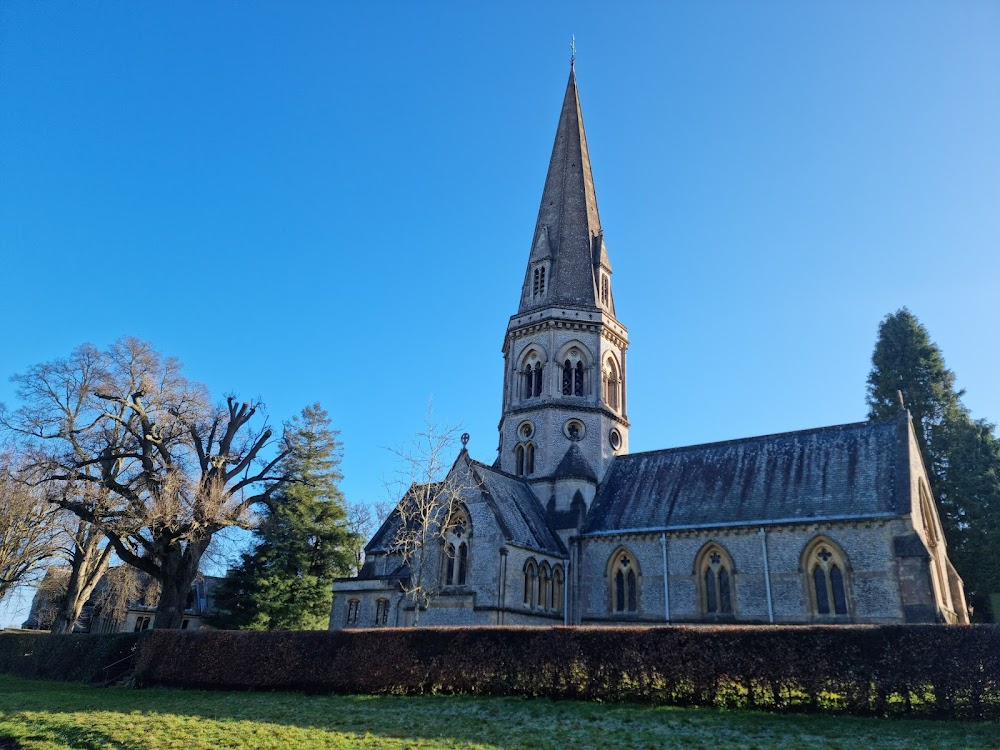
[[[554,555],[566,554],[562,541],[545,520],[545,509],[527,482],[478,461],[470,459],[469,463],[509,543]]]

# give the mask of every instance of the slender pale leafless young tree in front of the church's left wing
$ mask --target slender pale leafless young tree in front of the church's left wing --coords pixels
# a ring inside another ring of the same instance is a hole
[[[408,445],[393,449],[401,468],[396,481],[390,483],[397,492],[402,490],[402,499],[393,510],[396,518],[390,544],[409,568],[409,578],[402,586],[407,603],[413,607],[415,626],[420,623],[420,612],[440,588],[434,572],[448,522],[472,485],[471,477],[449,471],[460,428],[442,428],[429,413],[426,425]]]

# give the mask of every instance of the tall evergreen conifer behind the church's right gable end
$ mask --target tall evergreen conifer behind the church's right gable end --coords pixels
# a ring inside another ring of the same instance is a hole
[[[978,595],[981,612],[981,597],[1000,591],[995,554],[1000,547],[1000,441],[993,424],[972,418],[941,350],[905,307],[879,324],[868,375],[868,418],[898,413],[897,391],[913,418],[938,497],[949,557],[966,590]]]

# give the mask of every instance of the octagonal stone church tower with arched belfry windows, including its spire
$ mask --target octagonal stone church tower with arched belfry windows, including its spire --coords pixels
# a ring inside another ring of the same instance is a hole
[[[627,348],[571,66],[504,340],[500,419],[500,468],[531,484],[556,528],[579,524],[612,459],[628,452]]]

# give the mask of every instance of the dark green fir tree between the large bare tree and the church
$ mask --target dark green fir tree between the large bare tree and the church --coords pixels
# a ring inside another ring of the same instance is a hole
[[[216,627],[326,629],[333,579],[351,570],[341,446],[327,413],[318,403],[307,406],[285,424],[283,440],[283,469],[294,482],[273,497],[256,548],[216,589]]]

